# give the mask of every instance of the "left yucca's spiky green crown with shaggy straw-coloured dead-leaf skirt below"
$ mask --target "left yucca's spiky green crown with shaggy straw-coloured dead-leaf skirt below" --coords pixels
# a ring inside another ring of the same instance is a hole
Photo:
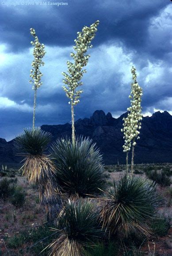
[[[20,155],[24,156],[23,175],[32,183],[38,184],[39,197],[42,204],[55,201],[55,167],[45,151],[52,139],[48,132],[41,128],[24,129],[24,133],[15,141],[18,144]]]

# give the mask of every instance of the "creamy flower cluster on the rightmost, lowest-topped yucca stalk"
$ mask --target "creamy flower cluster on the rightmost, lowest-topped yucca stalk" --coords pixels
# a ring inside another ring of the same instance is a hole
[[[142,96],[142,88],[139,86],[137,82],[137,74],[136,69],[134,67],[131,68],[132,79],[134,80],[131,84],[131,93],[129,98],[131,99],[131,106],[127,108],[128,115],[126,118],[123,118],[123,129],[121,131],[124,133],[125,143],[123,145],[123,152],[128,152],[131,149],[131,142],[134,139],[140,139],[138,136],[140,134],[139,130],[141,129],[141,96]],[[132,143],[133,146],[136,145],[136,142]]]

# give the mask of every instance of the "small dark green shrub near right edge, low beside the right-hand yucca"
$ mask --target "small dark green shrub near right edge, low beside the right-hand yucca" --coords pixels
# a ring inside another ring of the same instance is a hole
[[[170,228],[170,219],[162,216],[155,218],[151,222],[151,228],[156,236],[166,236]]]

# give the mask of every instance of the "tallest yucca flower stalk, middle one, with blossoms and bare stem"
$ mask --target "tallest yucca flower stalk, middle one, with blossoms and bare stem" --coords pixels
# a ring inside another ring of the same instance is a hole
[[[80,102],[80,94],[83,90],[77,90],[77,87],[82,85],[80,82],[86,69],[83,70],[84,66],[88,64],[89,54],[86,54],[88,48],[92,48],[91,41],[94,39],[97,31],[97,26],[99,25],[99,20],[93,23],[90,27],[84,26],[82,32],[77,32],[77,39],[74,40],[75,46],[73,49],[75,53],[71,52],[70,56],[73,58],[74,62],[67,61],[68,73],[62,72],[65,76],[63,83],[66,84],[62,86],[66,96],[70,99],[69,104],[71,104],[71,114],[72,114],[72,141],[75,145],[75,126],[74,126],[74,106]]]

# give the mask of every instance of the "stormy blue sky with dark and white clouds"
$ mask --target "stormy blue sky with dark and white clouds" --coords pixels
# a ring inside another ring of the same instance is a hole
[[[31,4],[31,6],[27,5]],[[30,28],[45,44],[36,126],[70,122],[61,86],[74,39],[84,25],[100,21],[83,76],[75,119],[102,109],[118,117],[130,104],[132,65],[143,88],[144,115],[172,114],[172,2],[170,0],[0,0],[0,137],[11,140],[32,125],[34,91],[29,83],[33,47]],[[16,5],[16,6],[15,6]]]

